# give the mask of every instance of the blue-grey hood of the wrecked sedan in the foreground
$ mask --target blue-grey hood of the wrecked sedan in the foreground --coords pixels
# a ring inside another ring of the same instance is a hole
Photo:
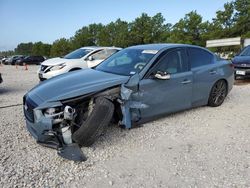
[[[129,76],[121,76],[93,69],[69,72],[46,80],[30,90],[26,97],[37,105],[95,93],[126,83]]]

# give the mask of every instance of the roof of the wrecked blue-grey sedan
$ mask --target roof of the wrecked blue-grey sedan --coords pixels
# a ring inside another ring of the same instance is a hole
[[[162,50],[166,48],[174,48],[174,47],[197,47],[202,48],[200,46],[190,45],[190,44],[172,44],[172,43],[159,43],[159,44],[144,44],[144,45],[136,45],[128,47],[130,49],[143,49],[143,50]],[[205,48],[202,48],[205,49]]]

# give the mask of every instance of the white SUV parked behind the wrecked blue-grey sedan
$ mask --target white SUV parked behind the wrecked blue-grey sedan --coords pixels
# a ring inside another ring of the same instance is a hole
[[[64,57],[44,61],[38,70],[41,81],[70,71],[92,68],[104,59],[121,50],[116,47],[83,47]]]

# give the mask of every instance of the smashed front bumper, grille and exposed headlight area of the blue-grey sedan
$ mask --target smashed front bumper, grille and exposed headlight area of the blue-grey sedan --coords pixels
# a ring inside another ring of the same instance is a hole
[[[74,161],[85,161],[86,157],[77,143],[72,141],[72,129],[76,117],[75,109],[70,106],[50,107],[47,109],[33,109],[31,114],[31,100],[24,103],[27,129],[37,140],[37,143],[57,149],[63,158]]]

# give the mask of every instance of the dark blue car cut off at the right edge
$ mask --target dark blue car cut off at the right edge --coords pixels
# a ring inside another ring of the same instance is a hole
[[[250,45],[235,56],[232,62],[235,68],[235,79],[250,78]]]

